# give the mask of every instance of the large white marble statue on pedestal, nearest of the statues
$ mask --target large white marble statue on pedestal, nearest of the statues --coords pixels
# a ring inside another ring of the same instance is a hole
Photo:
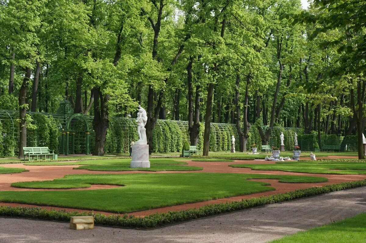
[[[145,129],[147,113],[141,106],[138,106],[136,122],[139,140],[135,142],[135,145],[132,145],[132,160],[130,167],[150,168],[149,145],[147,144]]]

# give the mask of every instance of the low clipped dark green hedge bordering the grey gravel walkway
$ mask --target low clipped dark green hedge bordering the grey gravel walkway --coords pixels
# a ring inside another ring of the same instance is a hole
[[[26,207],[11,207],[11,206],[1,206],[0,216],[36,218],[42,220],[56,220],[56,221],[67,221],[67,222],[70,221],[71,216],[93,216],[94,223],[97,225],[149,229],[168,224],[194,220],[197,218],[208,217],[221,213],[228,213],[362,186],[366,186],[366,180],[343,182],[339,184],[332,184],[322,187],[300,189],[292,192],[286,192],[267,197],[245,199],[238,202],[206,205],[199,209],[187,209],[180,211],[172,211],[168,213],[155,213],[145,217],[128,216],[127,214],[124,214],[123,216],[120,214],[116,215],[105,215],[101,213],[95,214],[93,213],[93,211],[87,213],[79,213],[78,211],[66,212],[65,210],[46,210],[40,207],[26,208]]]

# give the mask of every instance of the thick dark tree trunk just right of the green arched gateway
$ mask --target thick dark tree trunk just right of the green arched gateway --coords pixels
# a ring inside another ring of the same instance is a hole
[[[94,156],[104,155],[105,137],[109,127],[108,105],[109,95],[103,97],[100,88],[94,88],[94,119],[93,128],[95,131]],[[100,104],[99,104],[100,102]]]

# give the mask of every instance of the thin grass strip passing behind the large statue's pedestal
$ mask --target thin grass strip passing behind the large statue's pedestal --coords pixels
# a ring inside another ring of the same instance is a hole
[[[183,158],[149,158],[150,164],[180,164],[187,162],[179,161]],[[187,160],[187,159],[185,159]],[[25,165],[129,165],[131,158],[108,159],[108,160],[85,160],[76,162],[30,162]]]

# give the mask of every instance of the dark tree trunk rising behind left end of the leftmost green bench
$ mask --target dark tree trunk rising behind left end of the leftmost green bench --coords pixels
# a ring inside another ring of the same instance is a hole
[[[22,158],[24,156],[23,147],[27,146],[27,123],[25,120],[26,116],[26,97],[30,82],[30,67],[25,70],[25,76],[23,79],[22,87],[19,91],[19,156]]]

